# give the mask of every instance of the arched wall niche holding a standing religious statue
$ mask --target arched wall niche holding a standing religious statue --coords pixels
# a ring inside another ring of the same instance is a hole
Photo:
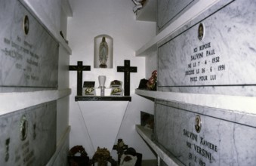
[[[113,68],[113,38],[109,35],[94,38],[94,68]]]

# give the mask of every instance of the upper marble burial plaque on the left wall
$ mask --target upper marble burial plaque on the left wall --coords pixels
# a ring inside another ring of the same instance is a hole
[[[56,88],[58,44],[17,0],[0,2],[0,86]]]

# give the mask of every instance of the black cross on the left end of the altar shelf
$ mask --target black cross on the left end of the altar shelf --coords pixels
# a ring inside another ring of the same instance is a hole
[[[82,71],[91,71],[91,66],[82,66],[82,61],[77,61],[77,66],[69,66],[69,70],[77,71],[77,96],[82,96]]]

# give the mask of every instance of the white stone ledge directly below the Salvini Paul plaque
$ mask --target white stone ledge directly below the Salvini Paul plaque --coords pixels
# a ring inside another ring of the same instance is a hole
[[[190,103],[199,106],[208,106],[217,109],[227,109],[237,112],[256,114],[256,97],[229,96],[223,94],[191,94],[163,91],[144,91],[139,89],[135,90],[135,94],[147,98],[150,97],[152,99]]]

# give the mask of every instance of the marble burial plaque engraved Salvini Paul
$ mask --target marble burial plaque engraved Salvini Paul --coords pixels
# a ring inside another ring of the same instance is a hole
[[[213,8],[159,44],[159,91],[254,96],[256,2]]]

